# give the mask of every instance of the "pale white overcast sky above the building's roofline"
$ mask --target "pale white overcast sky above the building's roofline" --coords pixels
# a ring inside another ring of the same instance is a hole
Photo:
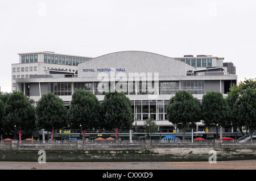
[[[255,0],[0,0],[1,91],[11,91],[17,53],[46,50],[208,54],[233,62],[238,81],[256,78],[255,18]]]

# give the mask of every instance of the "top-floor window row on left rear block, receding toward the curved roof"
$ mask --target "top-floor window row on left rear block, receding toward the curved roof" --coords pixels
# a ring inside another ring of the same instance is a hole
[[[47,64],[77,66],[82,62],[85,62],[88,60],[90,60],[90,58],[65,57],[65,56],[54,56],[54,55],[44,54],[44,63],[47,63]]]

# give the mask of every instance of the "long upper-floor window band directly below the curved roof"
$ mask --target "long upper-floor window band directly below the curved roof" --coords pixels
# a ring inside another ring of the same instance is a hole
[[[60,83],[60,88],[52,88],[58,87],[55,83],[53,85],[51,83],[51,92],[56,92],[56,95],[71,95],[71,93],[65,94],[65,91],[70,92],[71,86],[64,86],[65,83]],[[63,86],[61,86],[63,85]],[[71,83],[67,83],[67,85],[71,85]],[[144,86],[143,86],[144,85]],[[142,82],[135,83],[134,85],[129,83],[121,83],[118,85],[118,82],[115,82],[115,85],[112,85],[110,82],[108,83],[100,83],[100,82],[75,82],[74,83],[74,91],[77,89],[83,89],[87,91],[91,91],[96,95],[104,95],[110,89],[116,89],[118,91],[122,91],[126,95],[143,95],[143,94],[175,94],[179,90],[187,90],[191,92],[191,94],[204,94],[205,92],[205,82],[204,81],[172,81],[172,82],[159,82],[157,85],[155,82],[145,83]],[[59,93],[58,93],[59,92]],[[64,93],[62,93],[64,92]]]

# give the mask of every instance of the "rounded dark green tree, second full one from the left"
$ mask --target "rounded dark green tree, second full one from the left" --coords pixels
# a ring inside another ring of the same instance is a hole
[[[67,108],[63,100],[55,94],[48,92],[42,95],[36,106],[36,125],[39,129],[51,131],[53,139],[54,129],[63,128],[67,125]]]

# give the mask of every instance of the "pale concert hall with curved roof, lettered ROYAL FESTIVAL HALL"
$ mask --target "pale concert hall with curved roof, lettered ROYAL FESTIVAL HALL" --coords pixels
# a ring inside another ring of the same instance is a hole
[[[175,92],[187,90],[201,100],[207,91],[226,96],[237,83],[233,64],[226,64],[224,57],[209,55],[171,58],[141,51],[115,52],[96,58],[55,52],[18,55],[19,64],[12,64],[13,91],[24,92],[35,105],[49,91],[69,106],[76,89],[91,91],[100,101],[105,92],[116,89],[131,100],[134,126],[142,127],[143,121],[151,116],[159,132],[176,129],[166,115],[168,101]],[[204,129],[203,123],[199,127]]]

